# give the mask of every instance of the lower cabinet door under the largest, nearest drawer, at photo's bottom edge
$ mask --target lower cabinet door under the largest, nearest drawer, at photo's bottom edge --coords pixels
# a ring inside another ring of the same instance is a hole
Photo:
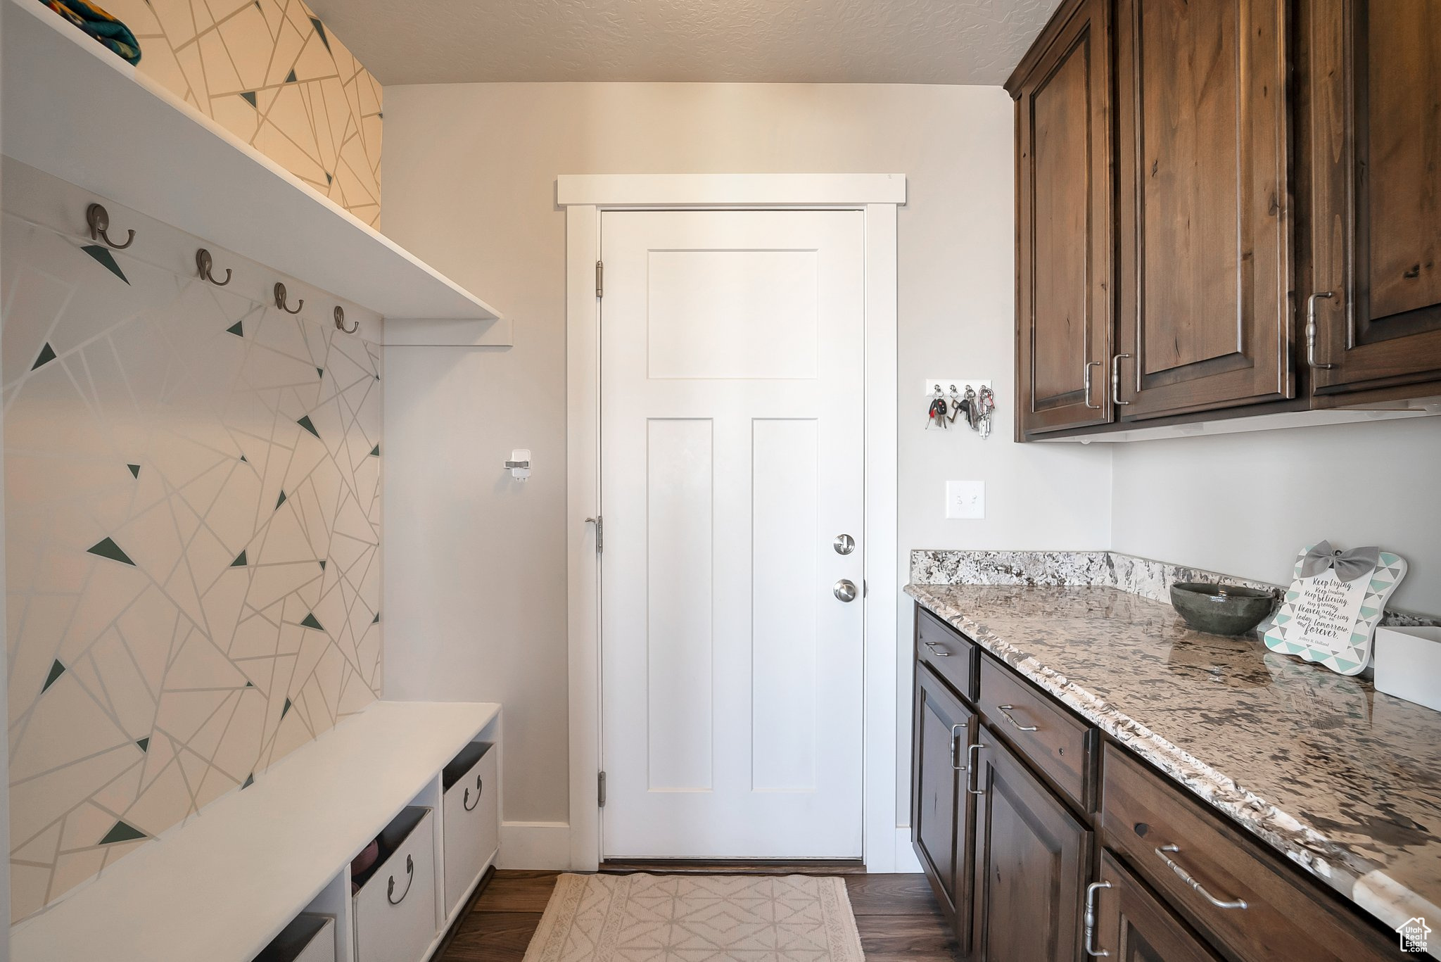
[[[1087,894],[1087,952],[1115,962],[1219,962],[1200,936],[1125,871],[1101,852],[1099,881]]]

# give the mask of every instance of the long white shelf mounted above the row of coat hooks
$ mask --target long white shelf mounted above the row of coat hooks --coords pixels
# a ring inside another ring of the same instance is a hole
[[[52,10],[0,0],[0,17],[6,154],[388,320],[473,322],[455,332],[464,343],[509,326]]]

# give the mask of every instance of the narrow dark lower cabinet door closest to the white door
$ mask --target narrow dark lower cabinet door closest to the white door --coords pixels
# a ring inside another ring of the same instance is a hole
[[[976,714],[922,663],[915,666],[911,842],[961,945],[970,936],[971,796],[965,756]]]

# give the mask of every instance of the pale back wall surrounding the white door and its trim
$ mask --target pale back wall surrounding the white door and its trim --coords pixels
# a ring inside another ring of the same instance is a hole
[[[918,547],[1105,547],[1110,453],[1010,441],[1013,121],[1003,91],[484,84],[388,87],[385,98],[386,232],[516,319],[512,349],[386,352],[385,694],[504,702],[507,821],[568,818],[556,175],[904,173],[896,587]],[[994,437],[925,431],[921,382],[932,375],[994,379]],[[512,447],[533,451],[525,486],[503,477]],[[984,521],[942,518],[947,477],[987,482]],[[902,612],[908,632],[909,606]]]

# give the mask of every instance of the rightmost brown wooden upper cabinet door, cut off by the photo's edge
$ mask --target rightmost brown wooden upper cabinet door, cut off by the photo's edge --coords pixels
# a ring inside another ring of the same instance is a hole
[[[1307,33],[1314,391],[1441,379],[1441,3],[1316,0]]]

